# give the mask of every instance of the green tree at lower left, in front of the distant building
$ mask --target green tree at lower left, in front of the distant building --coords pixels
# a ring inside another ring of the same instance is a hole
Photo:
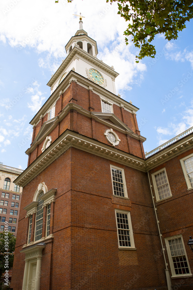
[[[5,240],[8,240],[8,247],[5,247]],[[0,277],[5,272],[5,255],[9,253],[9,264],[6,270],[9,270],[13,266],[14,250],[15,250],[15,241],[16,238],[10,232],[0,233]]]

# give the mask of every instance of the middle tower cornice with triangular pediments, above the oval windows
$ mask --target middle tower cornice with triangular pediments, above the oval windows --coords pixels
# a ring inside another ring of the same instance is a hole
[[[51,126],[47,128],[47,130],[44,132],[42,130],[42,128],[40,129],[40,132],[38,133],[38,135],[36,136],[36,139],[34,140],[32,146],[30,148],[28,148],[25,153],[27,155],[30,154],[30,152],[32,152],[36,146],[38,144],[40,144],[51,132],[52,130],[56,127],[56,125],[58,124],[58,122],[60,122],[70,110],[76,110],[78,113],[87,116],[89,118],[93,118],[96,121],[98,121],[99,123],[102,123],[108,127],[111,127],[121,133],[124,134],[128,134],[129,136],[137,139],[137,140],[141,140],[142,142],[144,142],[146,140],[145,137],[141,136],[141,135],[137,135],[135,133],[133,133],[132,130],[130,130],[130,128],[128,128],[120,119],[118,119],[113,113],[100,113],[100,112],[89,112],[85,109],[83,109],[82,107],[74,104],[74,103],[69,103],[65,106],[65,108],[62,110],[62,112],[60,113],[59,116],[53,118],[53,122],[51,123]],[[109,118],[108,118],[109,116]],[[110,119],[114,124],[108,122],[106,119]],[[48,121],[46,121],[45,123],[47,124]],[[44,123],[44,124],[45,124]],[[41,134],[42,133],[42,134]]]

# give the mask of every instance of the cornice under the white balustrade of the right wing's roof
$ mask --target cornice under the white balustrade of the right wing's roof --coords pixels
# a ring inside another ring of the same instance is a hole
[[[147,171],[193,148],[193,133],[177,140],[145,160]]]

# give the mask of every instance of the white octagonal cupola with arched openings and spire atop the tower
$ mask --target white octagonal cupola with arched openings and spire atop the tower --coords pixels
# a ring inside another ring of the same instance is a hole
[[[67,55],[71,52],[75,45],[78,45],[80,48],[88,52],[90,55],[93,55],[94,57],[96,57],[98,54],[96,41],[90,38],[87,32],[83,30],[81,17],[79,21],[79,30],[77,30],[75,36],[71,37],[65,46]]]

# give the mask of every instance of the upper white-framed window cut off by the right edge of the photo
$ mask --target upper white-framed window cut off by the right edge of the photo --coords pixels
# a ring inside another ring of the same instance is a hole
[[[193,154],[180,160],[188,188],[193,187]]]

